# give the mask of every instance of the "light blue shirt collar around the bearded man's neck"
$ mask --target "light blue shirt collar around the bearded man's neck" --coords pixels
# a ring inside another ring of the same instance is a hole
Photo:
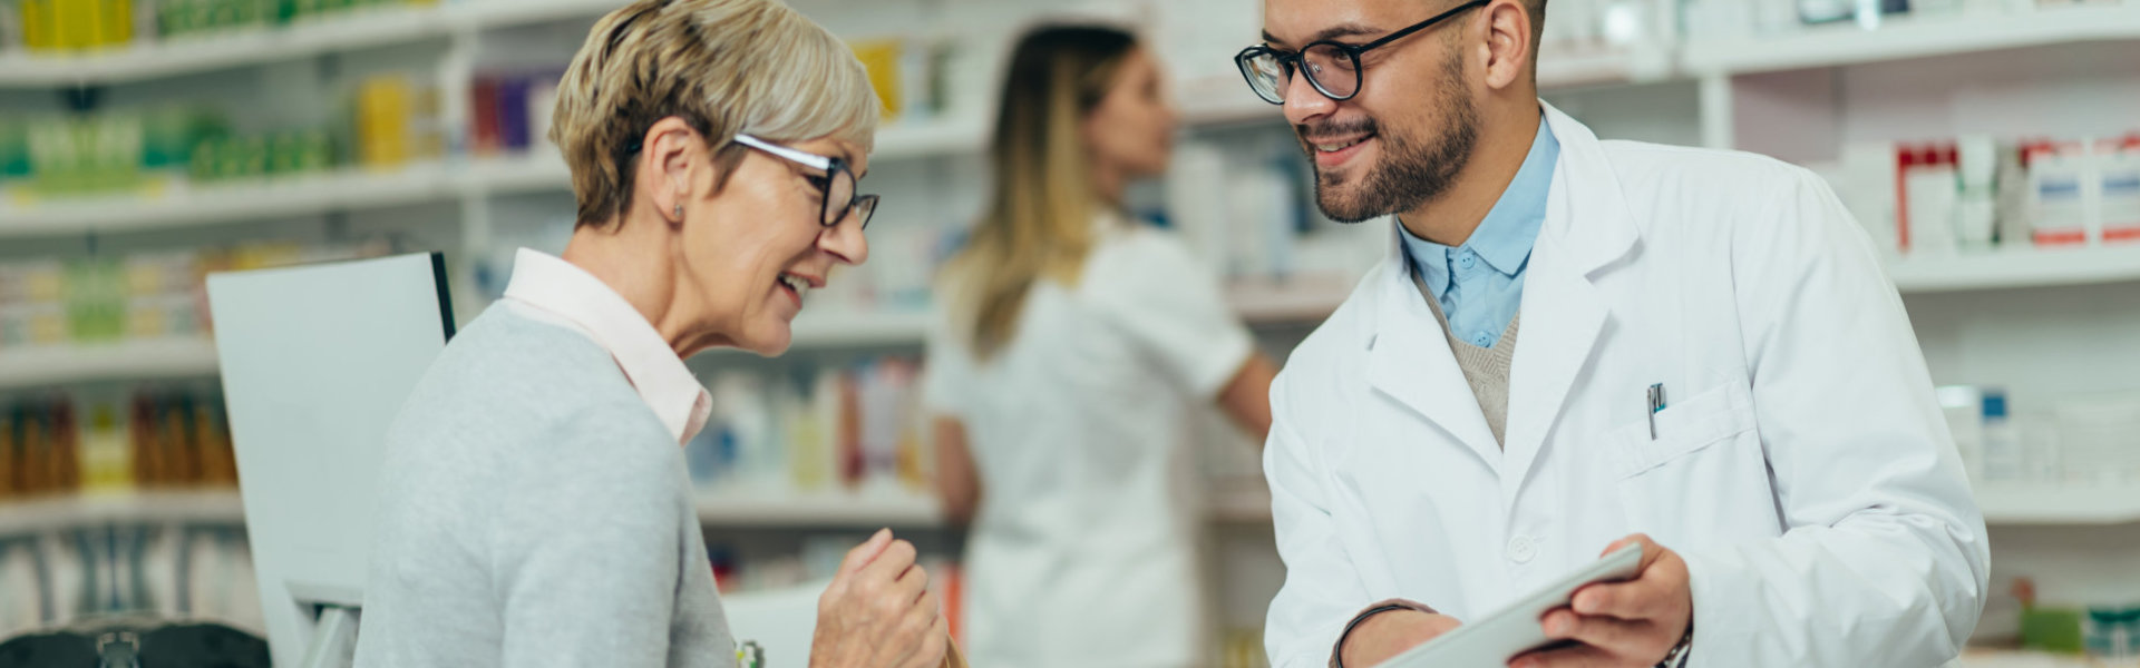
[[[1545,227],[1545,199],[1554,188],[1554,167],[1558,161],[1560,139],[1539,118],[1539,135],[1530,139],[1530,154],[1524,156],[1524,167],[1515,169],[1509,188],[1485,212],[1470,240],[1464,240],[1464,248],[1477,253],[1496,272],[1515,276],[1524,268],[1524,261],[1530,259],[1530,246],[1539,240],[1539,229]],[[1402,223],[1397,225],[1397,233],[1404,240],[1404,255],[1412,259],[1412,268],[1421,272],[1421,278],[1434,287],[1449,285],[1449,255],[1455,248],[1417,238]]]

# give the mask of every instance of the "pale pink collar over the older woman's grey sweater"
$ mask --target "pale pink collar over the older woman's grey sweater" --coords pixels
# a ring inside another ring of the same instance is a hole
[[[554,255],[520,248],[505,300],[535,308],[601,345],[676,443],[691,441],[706,426],[713,413],[706,385],[698,383],[661,332],[595,274]]]

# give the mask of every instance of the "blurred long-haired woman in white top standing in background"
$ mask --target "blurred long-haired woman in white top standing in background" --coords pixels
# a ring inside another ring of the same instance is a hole
[[[1042,28],[1012,54],[995,193],[946,265],[924,403],[967,535],[976,666],[1190,666],[1194,411],[1258,441],[1273,364],[1175,238],[1124,214],[1175,131],[1151,51]]]

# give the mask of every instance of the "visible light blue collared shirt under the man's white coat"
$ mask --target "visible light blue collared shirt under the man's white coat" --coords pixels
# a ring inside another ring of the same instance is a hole
[[[1479,221],[1464,246],[1449,248],[1412,236],[1397,225],[1404,255],[1412,259],[1419,280],[1434,291],[1449,317],[1449,332],[1477,345],[1494,347],[1524,306],[1524,268],[1530,246],[1545,227],[1545,195],[1554,188],[1554,165],[1560,161],[1560,139],[1539,120],[1539,137],[1515,180]]]

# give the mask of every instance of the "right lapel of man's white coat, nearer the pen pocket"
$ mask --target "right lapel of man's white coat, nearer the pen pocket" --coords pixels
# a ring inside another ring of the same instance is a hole
[[[1543,103],[1541,103],[1543,105]],[[1545,105],[1560,139],[1560,165],[1547,195],[1545,227],[1524,272],[1524,330],[1509,368],[1509,430],[1502,452],[1502,503],[1513,503],[1569,392],[1596,353],[1609,306],[1590,283],[1637,242],[1620,182],[1596,135]],[[1635,400],[1629,390],[1629,400]]]

